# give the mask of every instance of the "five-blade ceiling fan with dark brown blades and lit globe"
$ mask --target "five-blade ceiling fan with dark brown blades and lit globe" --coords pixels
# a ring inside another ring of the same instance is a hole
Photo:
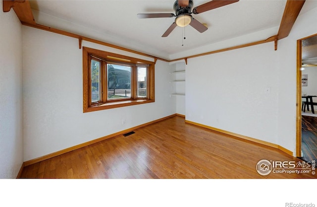
[[[235,3],[239,0],[212,0],[202,5],[193,8],[193,0],[176,0],[174,2],[173,13],[140,13],[137,14],[138,18],[161,18],[161,17],[175,17],[175,21],[170,25],[162,37],[167,37],[176,26],[185,27],[188,24],[194,27],[200,33],[205,32],[208,28],[200,23],[197,19],[193,18],[191,14],[199,14],[205,11],[209,11],[214,8],[225,6],[231,3]]]

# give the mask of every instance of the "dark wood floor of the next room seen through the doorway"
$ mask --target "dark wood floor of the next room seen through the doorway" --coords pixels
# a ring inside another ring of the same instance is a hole
[[[317,117],[302,116],[302,159],[317,161]]]

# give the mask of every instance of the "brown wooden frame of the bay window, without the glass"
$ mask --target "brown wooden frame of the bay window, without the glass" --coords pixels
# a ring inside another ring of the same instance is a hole
[[[101,83],[99,89],[101,93],[101,102],[91,102],[91,60],[101,61]],[[106,64],[118,64],[131,66],[131,98],[110,99],[107,100],[107,72]],[[137,68],[147,66],[147,97],[137,97]],[[117,107],[131,106],[136,104],[145,104],[155,102],[155,63],[132,58],[124,55],[110,53],[83,47],[83,112],[92,112]]]

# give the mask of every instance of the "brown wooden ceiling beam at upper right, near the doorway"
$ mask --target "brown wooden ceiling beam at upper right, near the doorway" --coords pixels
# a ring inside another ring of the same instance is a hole
[[[291,29],[301,11],[305,0],[287,0],[281,24],[277,33],[278,40],[283,39],[289,35]]]

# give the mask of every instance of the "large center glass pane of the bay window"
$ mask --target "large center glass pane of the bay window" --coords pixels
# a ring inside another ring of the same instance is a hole
[[[131,97],[131,67],[107,64],[108,99]]]

